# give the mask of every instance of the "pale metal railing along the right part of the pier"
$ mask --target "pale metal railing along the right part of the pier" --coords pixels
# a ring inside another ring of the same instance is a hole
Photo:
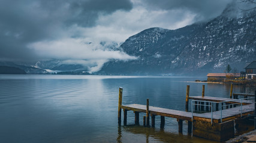
[[[210,113],[211,123],[213,123],[213,113],[216,116],[219,114],[221,123],[222,123],[222,112],[227,108],[237,108],[239,106],[240,108],[237,114],[240,114],[240,116],[242,117],[243,111],[245,110],[254,111],[254,101],[255,101],[254,97],[242,98],[242,99],[231,99],[228,101],[219,101],[219,102],[192,100],[191,101],[192,121],[193,121],[193,112],[195,111],[197,113]],[[243,104],[248,105],[249,108],[247,107],[243,110]],[[193,110],[193,107],[195,107],[195,109],[198,108],[198,110]],[[206,107],[206,110],[204,110],[204,107]],[[214,107],[215,107],[215,110],[214,110]]]

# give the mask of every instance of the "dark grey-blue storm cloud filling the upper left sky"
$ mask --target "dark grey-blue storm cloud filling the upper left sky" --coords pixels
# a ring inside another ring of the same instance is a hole
[[[65,36],[68,26],[95,26],[100,14],[131,10],[129,0],[0,1],[0,60],[37,57],[32,42]]]

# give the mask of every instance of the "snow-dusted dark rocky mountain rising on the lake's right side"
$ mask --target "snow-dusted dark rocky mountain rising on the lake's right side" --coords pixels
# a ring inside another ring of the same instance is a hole
[[[242,11],[230,4],[205,23],[176,30],[159,27],[129,37],[121,49],[137,60],[110,60],[98,74],[206,75],[224,72],[227,64],[244,71],[256,59],[256,10]]]

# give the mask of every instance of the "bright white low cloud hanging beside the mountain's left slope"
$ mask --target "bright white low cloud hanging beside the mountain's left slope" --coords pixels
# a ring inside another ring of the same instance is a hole
[[[86,42],[85,39],[41,41],[30,43],[28,47],[40,57],[59,59],[60,64],[80,64],[87,67],[91,73],[100,70],[110,59],[124,61],[136,59],[125,52],[111,50],[98,43]]]

